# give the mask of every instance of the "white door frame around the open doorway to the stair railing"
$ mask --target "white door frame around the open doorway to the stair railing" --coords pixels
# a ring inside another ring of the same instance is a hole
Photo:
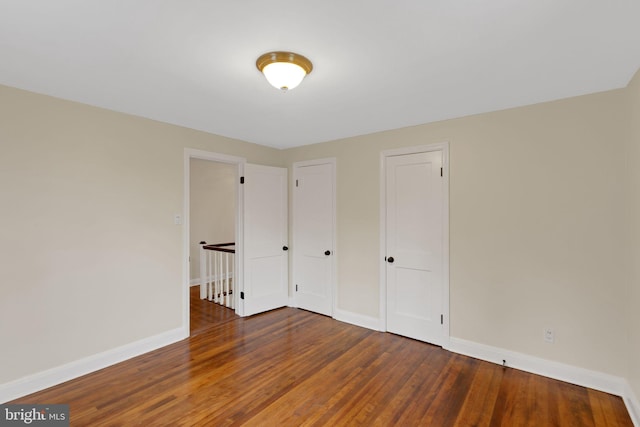
[[[190,335],[190,272],[191,266],[189,261],[190,256],[190,202],[191,202],[191,193],[190,193],[190,179],[191,179],[191,159],[200,159],[200,160],[208,160],[212,162],[218,163],[228,163],[232,165],[236,165],[237,167],[237,176],[236,176],[236,243],[242,242],[244,237],[244,224],[242,222],[242,212],[244,211],[244,198],[243,198],[243,187],[240,185],[240,177],[244,174],[244,165],[247,160],[243,157],[230,156],[227,154],[220,154],[211,151],[203,151],[197,150],[193,148],[185,148],[184,149],[184,198],[183,198],[183,247],[182,247],[182,277],[183,277],[183,292],[182,292],[182,325],[185,328],[186,336]],[[233,272],[233,280],[234,287],[238,289],[238,292],[234,292],[236,313],[240,316],[243,315],[244,306],[241,304],[242,300],[240,300],[240,290],[244,289],[244,266],[243,266],[243,245],[236,245],[236,256],[235,256],[235,269]]]

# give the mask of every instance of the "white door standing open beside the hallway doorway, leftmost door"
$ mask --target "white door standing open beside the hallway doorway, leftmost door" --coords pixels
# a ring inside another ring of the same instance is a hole
[[[287,169],[246,164],[240,296],[245,316],[287,305],[287,209]]]

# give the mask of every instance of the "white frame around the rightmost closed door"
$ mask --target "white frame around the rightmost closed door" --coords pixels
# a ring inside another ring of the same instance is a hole
[[[380,330],[387,331],[387,275],[386,275],[386,246],[387,246],[387,180],[386,180],[386,159],[392,156],[406,154],[419,154],[432,151],[442,152],[442,185],[443,185],[443,206],[442,206],[442,311],[444,315],[442,326],[443,348],[449,344],[449,142],[439,142],[434,144],[419,145],[415,147],[405,147],[380,152]]]

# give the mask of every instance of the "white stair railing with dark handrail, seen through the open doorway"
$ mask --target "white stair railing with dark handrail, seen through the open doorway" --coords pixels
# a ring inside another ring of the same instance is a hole
[[[200,242],[200,298],[234,307],[235,243]]]

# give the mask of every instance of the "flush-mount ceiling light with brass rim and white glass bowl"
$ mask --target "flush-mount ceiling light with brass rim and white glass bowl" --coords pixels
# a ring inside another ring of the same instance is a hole
[[[265,53],[256,61],[256,67],[273,87],[282,91],[298,86],[313,70],[311,61],[293,52]]]

